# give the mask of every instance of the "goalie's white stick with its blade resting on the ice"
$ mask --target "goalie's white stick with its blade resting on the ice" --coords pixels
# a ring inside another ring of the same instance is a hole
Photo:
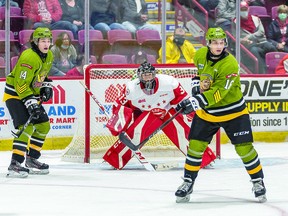
[[[103,113],[106,115],[106,117],[109,118],[109,115],[105,111],[104,106],[100,103],[99,100],[97,100],[96,96],[92,93],[92,91],[85,85],[83,81],[79,81],[80,84],[84,87],[85,91],[90,95],[90,97],[95,101],[95,103],[100,107],[100,109],[103,111]],[[155,170],[165,170],[165,169],[172,169],[178,167],[178,164],[151,164],[149,161],[146,160],[145,156],[142,154],[142,152],[133,151],[134,156],[137,158],[137,160],[147,169],[148,171],[155,171]]]

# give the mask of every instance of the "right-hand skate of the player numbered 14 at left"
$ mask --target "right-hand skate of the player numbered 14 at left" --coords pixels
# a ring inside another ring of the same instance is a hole
[[[29,174],[46,175],[49,173],[49,165],[39,162],[36,158],[26,157],[25,166],[29,169]]]

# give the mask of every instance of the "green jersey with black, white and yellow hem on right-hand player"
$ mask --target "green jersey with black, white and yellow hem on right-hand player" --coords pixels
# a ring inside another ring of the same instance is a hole
[[[223,122],[248,114],[241,92],[239,65],[235,57],[226,53],[218,61],[208,59],[208,48],[200,48],[194,58],[200,76],[202,104],[197,115],[209,122]]]

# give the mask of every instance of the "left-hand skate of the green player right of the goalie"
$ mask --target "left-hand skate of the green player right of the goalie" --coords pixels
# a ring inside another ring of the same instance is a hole
[[[194,181],[189,178],[184,178],[184,182],[178,187],[175,192],[176,203],[189,202],[190,194],[193,192]]]

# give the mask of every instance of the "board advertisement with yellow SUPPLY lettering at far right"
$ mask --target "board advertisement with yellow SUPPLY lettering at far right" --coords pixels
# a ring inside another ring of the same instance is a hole
[[[241,90],[254,131],[287,130],[287,77],[242,77]]]

